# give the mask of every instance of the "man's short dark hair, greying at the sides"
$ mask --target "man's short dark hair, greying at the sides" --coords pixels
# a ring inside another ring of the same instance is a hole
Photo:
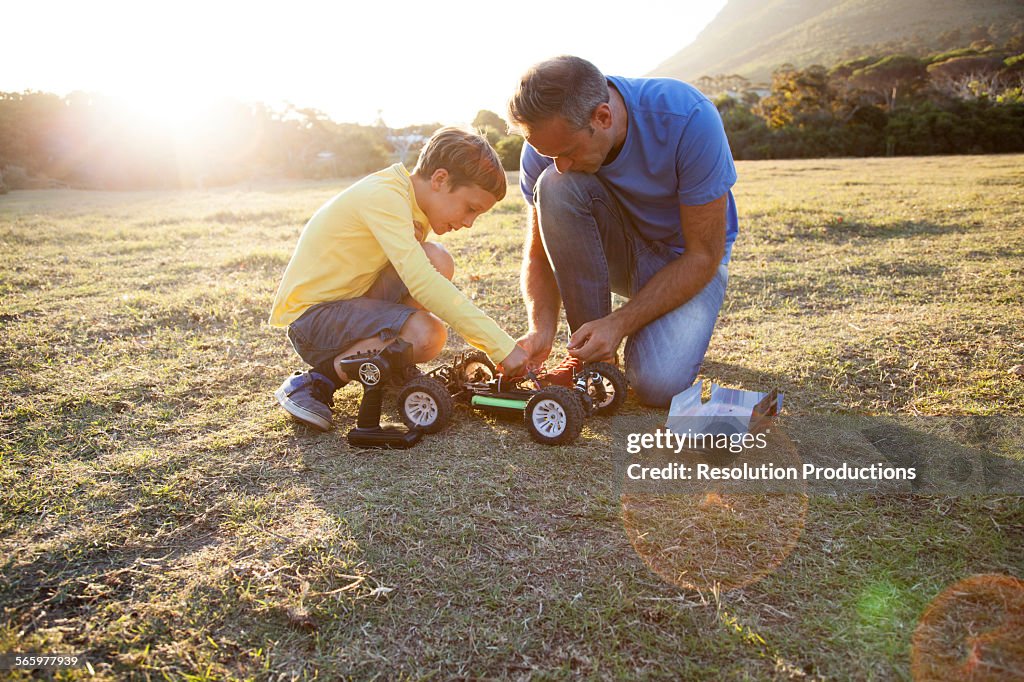
[[[556,116],[573,130],[590,126],[594,110],[608,101],[604,74],[586,59],[562,55],[529,68],[509,99],[512,128],[528,133]]]

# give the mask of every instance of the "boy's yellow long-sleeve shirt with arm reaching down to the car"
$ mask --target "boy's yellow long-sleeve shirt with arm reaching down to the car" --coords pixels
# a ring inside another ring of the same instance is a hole
[[[317,303],[362,296],[390,262],[423,307],[502,361],[515,340],[434,269],[420,246],[429,225],[403,165],[362,178],[321,207],[302,229],[270,325],[287,327]]]

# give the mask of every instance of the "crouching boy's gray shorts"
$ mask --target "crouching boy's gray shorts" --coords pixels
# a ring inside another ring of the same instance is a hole
[[[306,364],[333,360],[359,339],[390,341],[418,310],[399,303],[409,296],[401,278],[388,265],[358,298],[317,303],[288,328],[292,347]]]

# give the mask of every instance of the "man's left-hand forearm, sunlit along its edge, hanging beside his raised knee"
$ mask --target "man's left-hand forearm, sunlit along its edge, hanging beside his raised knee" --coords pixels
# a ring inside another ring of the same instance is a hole
[[[529,207],[529,226],[526,228],[519,283],[523,301],[526,303],[529,332],[518,339],[518,343],[529,353],[528,365],[540,367],[551,354],[562,299],[558,293],[555,274],[548,262],[548,254],[544,251],[544,243],[541,241],[541,225],[536,206]]]

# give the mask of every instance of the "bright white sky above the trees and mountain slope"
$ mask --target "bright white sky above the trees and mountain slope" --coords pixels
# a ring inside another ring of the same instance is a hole
[[[504,117],[521,72],[555,54],[643,76],[725,0],[575,3],[315,0],[16,2],[3,10],[0,90],[88,90],[185,118],[229,96],[391,126]],[[604,6],[601,6],[604,5]]]

